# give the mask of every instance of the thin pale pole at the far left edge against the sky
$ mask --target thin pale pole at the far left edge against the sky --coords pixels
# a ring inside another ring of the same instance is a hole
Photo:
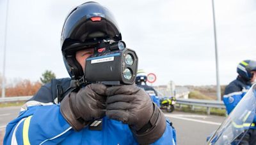
[[[3,78],[2,78],[2,98],[5,97],[5,60],[6,60],[6,42],[7,42],[7,24],[8,24],[8,8],[9,0],[6,2],[6,17],[5,17],[5,29],[4,29],[4,57],[3,57]]]

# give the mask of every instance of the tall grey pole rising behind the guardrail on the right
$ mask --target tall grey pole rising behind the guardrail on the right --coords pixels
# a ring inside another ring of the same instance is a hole
[[[218,47],[216,38],[216,25],[215,25],[215,14],[214,14],[214,0],[212,0],[212,15],[213,15],[213,27],[214,27],[214,45],[215,45],[215,60],[216,60],[216,79],[217,79],[217,100],[221,100],[220,93],[220,78],[219,78],[219,62],[218,62]]]

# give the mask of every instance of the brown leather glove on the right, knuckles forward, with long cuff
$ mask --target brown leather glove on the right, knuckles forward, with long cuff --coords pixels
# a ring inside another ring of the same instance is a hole
[[[153,143],[163,135],[166,127],[164,115],[142,88],[111,86],[106,95],[106,116],[128,124],[140,144]]]

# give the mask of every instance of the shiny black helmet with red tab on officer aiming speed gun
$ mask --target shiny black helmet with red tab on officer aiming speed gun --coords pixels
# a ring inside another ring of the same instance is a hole
[[[102,39],[122,40],[115,18],[107,8],[90,1],[70,11],[61,32],[61,51],[72,79],[84,75],[76,60],[76,52],[93,48]]]

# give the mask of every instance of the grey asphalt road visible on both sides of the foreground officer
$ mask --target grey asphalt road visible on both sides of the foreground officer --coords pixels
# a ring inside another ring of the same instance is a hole
[[[6,123],[16,118],[20,107],[0,108],[0,130],[4,130]],[[207,135],[210,135],[220,123],[225,120],[223,116],[191,114],[175,111],[164,113],[172,121],[177,130],[177,144],[205,144]],[[3,133],[2,133],[3,137]],[[1,144],[1,133],[0,133]]]

